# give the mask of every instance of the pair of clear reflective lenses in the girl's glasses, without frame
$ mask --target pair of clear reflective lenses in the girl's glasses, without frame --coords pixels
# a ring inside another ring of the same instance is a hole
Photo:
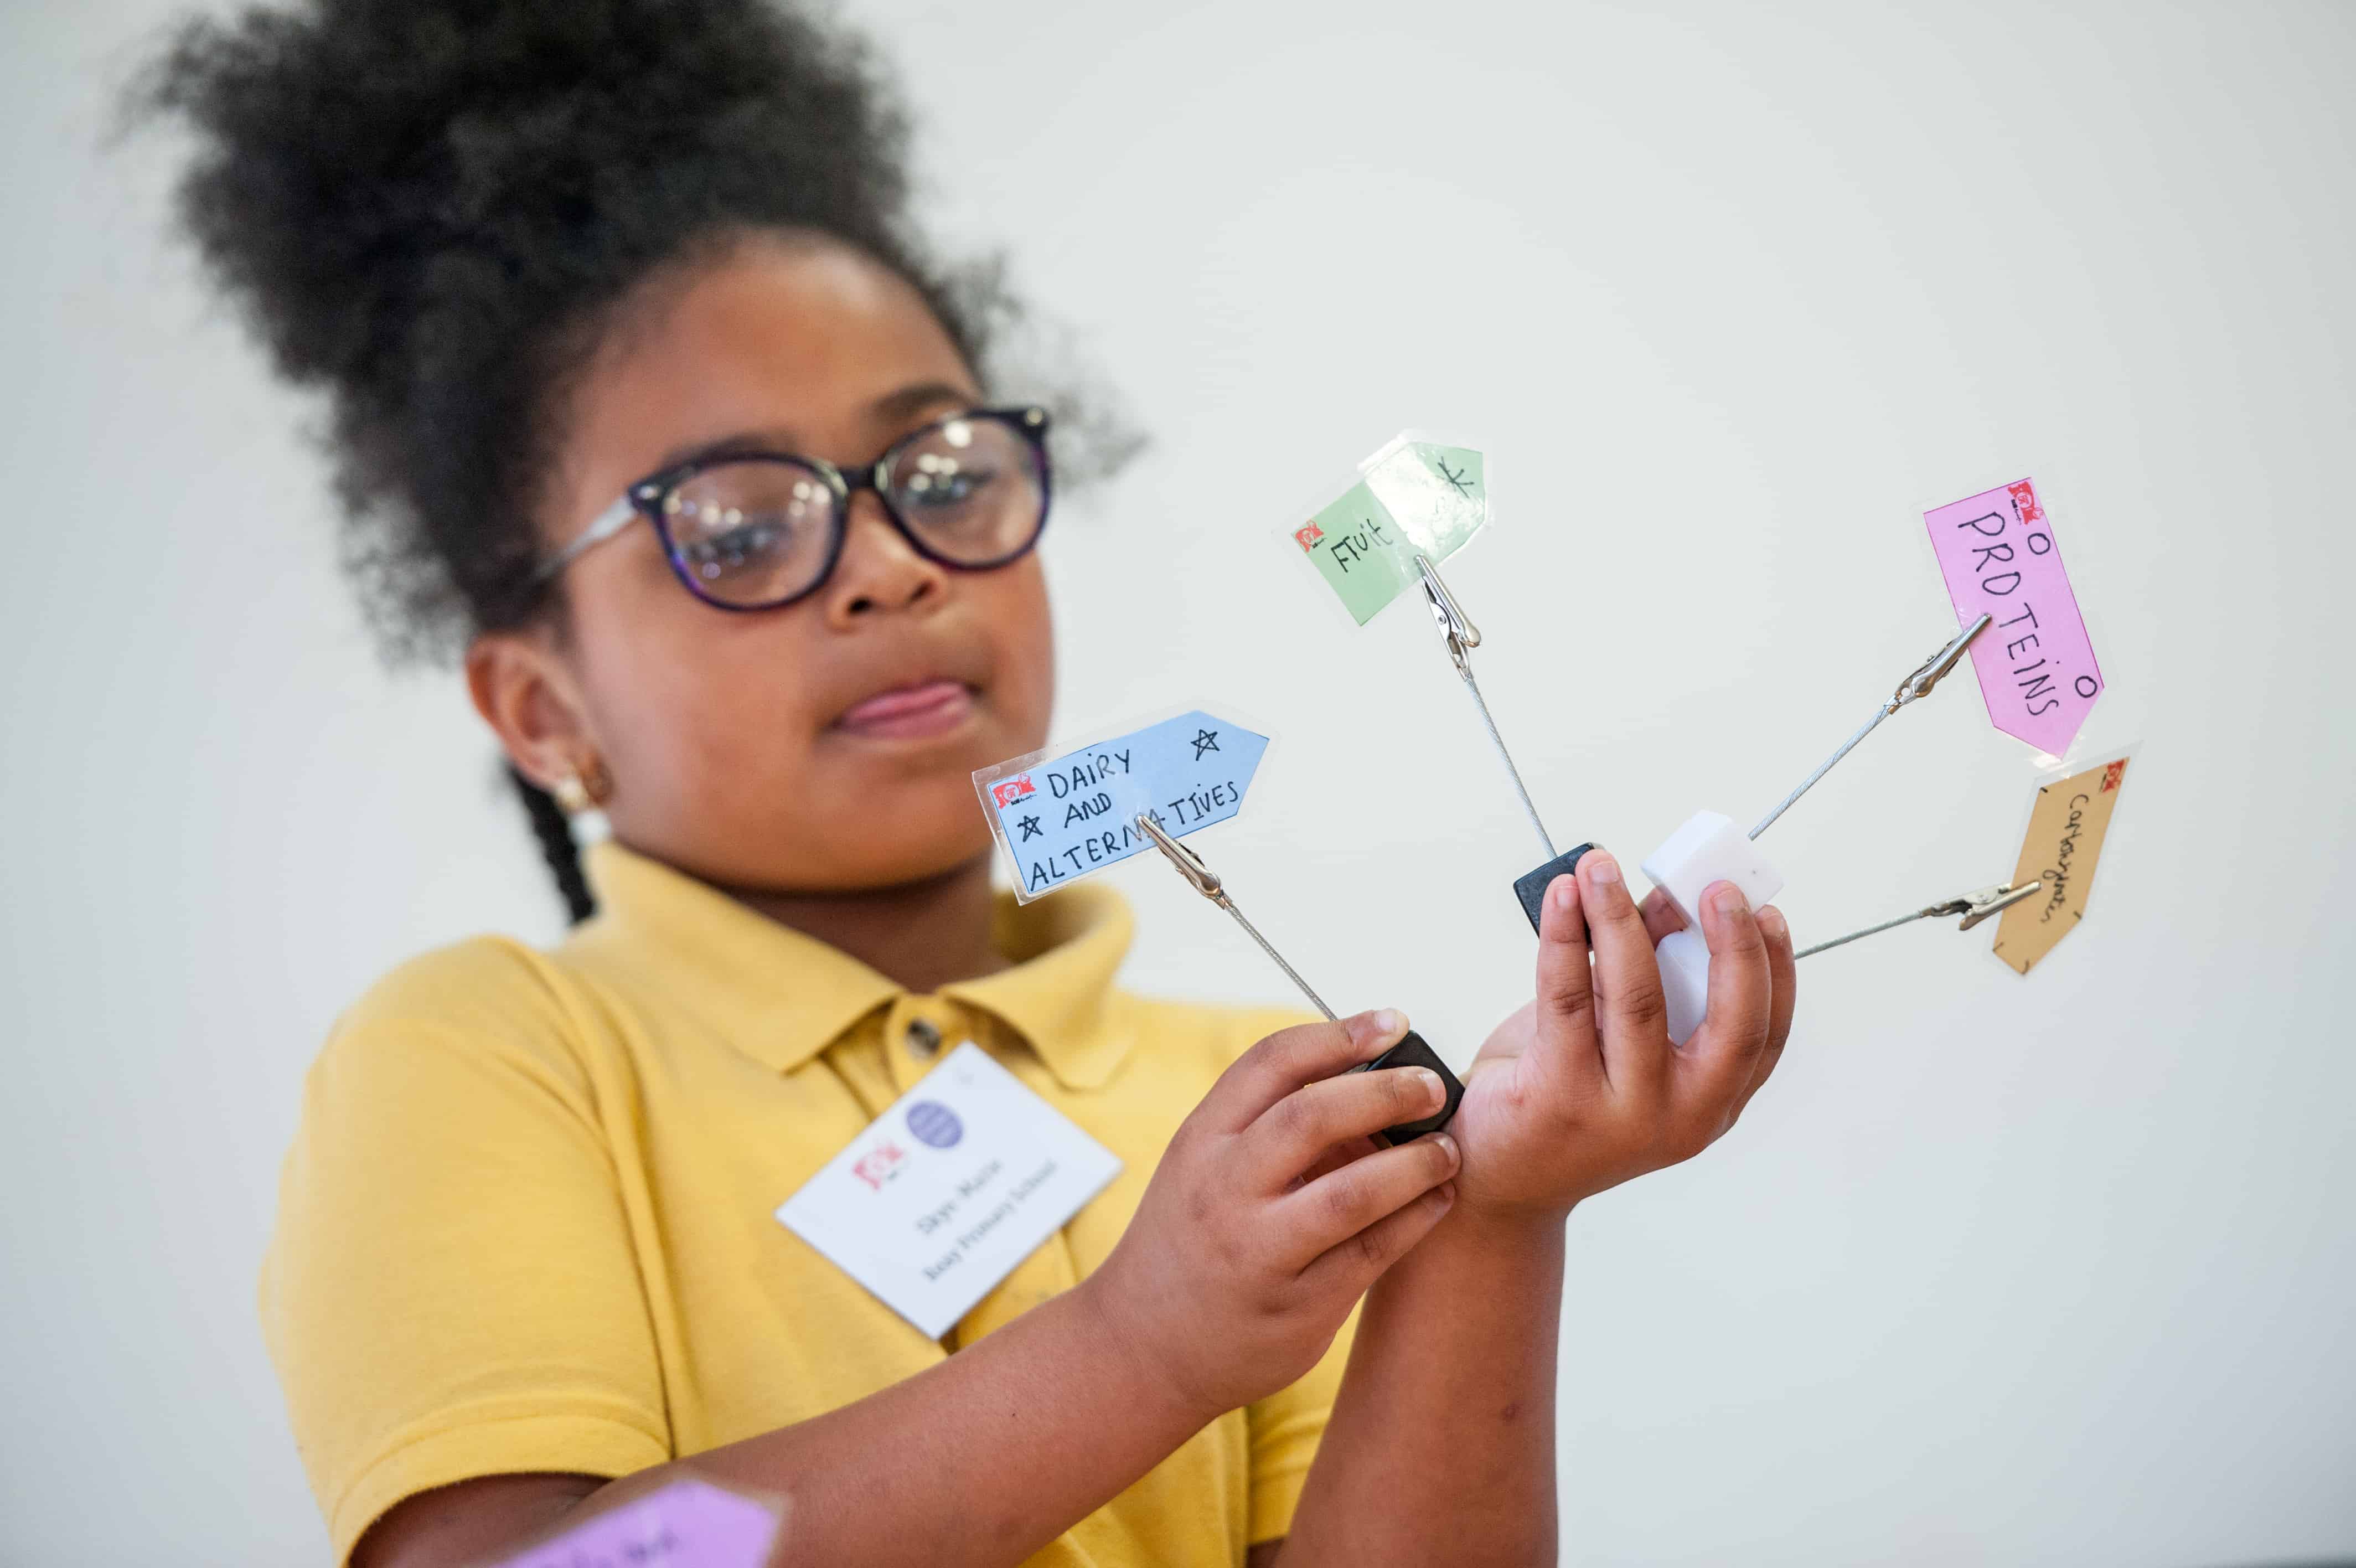
[[[933,556],[997,566],[1030,547],[1046,514],[1037,448],[1001,420],[959,417],[893,450],[884,495]],[[777,457],[716,462],[662,502],[679,568],[707,599],[761,606],[808,592],[834,545],[834,488]]]

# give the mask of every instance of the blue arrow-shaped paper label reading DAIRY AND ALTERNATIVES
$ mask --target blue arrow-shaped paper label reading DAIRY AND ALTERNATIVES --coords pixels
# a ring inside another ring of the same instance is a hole
[[[1173,839],[1227,821],[1265,750],[1268,736],[1197,710],[973,778],[1013,854],[1023,896],[1037,898],[1152,849],[1138,813]]]

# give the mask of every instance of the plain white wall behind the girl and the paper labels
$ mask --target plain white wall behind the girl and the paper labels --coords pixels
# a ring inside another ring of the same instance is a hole
[[[7,1561],[304,1563],[252,1285],[304,1063],[398,957],[554,936],[445,674],[386,677],[330,500],[106,151],[167,14],[0,19],[0,1516]],[[1414,606],[1284,531],[1402,424],[1477,436],[1449,578],[1557,837],[1748,821],[1953,625],[1920,514],[2033,474],[2142,738],[2021,981],[1920,924],[1809,960],[1692,1167],[1571,1224],[1564,1556],[2356,1551],[2347,964],[2349,5],[862,5],[926,210],[1008,243],[1154,448],[1048,538],[1063,733],[1279,736],[1206,842],[1348,1007],[1456,1059],[1534,863]],[[1176,14],[1169,14],[1176,12]],[[1802,938],[2003,877],[1972,681],[1765,842]],[[1133,981],[1279,997],[1176,877]]]

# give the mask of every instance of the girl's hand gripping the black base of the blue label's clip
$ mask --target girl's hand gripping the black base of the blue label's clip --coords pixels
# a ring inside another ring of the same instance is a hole
[[[1383,1009],[1244,1052],[1178,1127],[1121,1243],[1081,1285],[1202,1422],[1317,1365],[1376,1276],[1456,1200],[1449,1134],[1369,1144],[1437,1111],[1440,1078],[1345,1073],[1404,1035],[1407,1019]]]

